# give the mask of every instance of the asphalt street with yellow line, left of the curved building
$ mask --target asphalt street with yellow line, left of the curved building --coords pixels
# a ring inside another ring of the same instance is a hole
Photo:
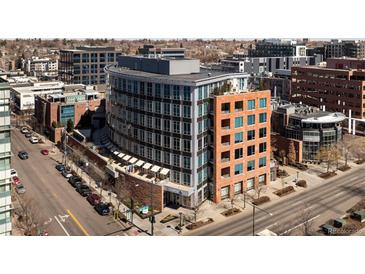
[[[11,132],[12,168],[18,172],[26,193],[39,210],[37,216],[49,235],[101,236],[125,235],[123,227],[111,216],[100,216],[93,207],[55,169],[55,161],[40,153],[50,147],[31,144],[19,129]],[[25,150],[29,159],[21,160]]]

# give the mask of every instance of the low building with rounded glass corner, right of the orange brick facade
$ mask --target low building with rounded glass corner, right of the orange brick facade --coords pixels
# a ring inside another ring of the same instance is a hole
[[[279,157],[293,153],[292,161],[316,161],[320,148],[342,139],[342,122],[346,119],[342,113],[285,101],[273,101],[271,106],[272,146]]]

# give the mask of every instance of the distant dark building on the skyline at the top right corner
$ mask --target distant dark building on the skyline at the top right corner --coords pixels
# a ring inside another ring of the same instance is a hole
[[[324,45],[325,59],[336,57],[365,58],[365,41],[332,40]]]

